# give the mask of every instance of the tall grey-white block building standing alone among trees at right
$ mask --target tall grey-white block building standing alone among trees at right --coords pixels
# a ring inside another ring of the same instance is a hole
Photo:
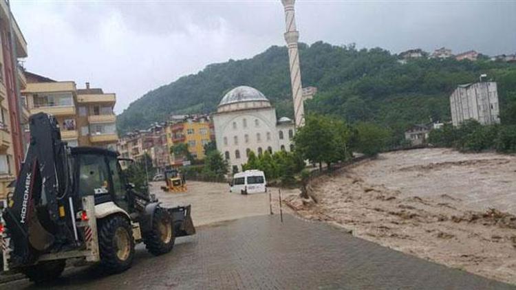
[[[450,96],[453,126],[473,119],[480,124],[497,124],[499,102],[496,82],[476,82],[460,85]]]

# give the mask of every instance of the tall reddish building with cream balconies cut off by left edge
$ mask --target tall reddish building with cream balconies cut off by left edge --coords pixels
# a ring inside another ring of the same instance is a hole
[[[8,185],[16,178],[24,157],[20,123],[28,118],[28,112],[23,115],[19,106],[19,89],[26,85],[19,58],[27,55],[25,38],[7,2],[0,1],[0,199],[12,190]]]

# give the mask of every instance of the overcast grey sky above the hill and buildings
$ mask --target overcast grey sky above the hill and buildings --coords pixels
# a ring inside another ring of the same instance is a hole
[[[210,63],[284,45],[279,0],[11,2],[28,42],[25,67],[114,92],[117,113]],[[309,44],[516,52],[516,1],[298,0],[296,14]]]

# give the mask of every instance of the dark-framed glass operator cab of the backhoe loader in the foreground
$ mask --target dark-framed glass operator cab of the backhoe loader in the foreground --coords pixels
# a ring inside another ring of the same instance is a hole
[[[71,148],[76,168],[76,192],[83,197],[94,195],[95,203],[114,201],[129,210],[127,181],[118,163],[118,153],[92,147]]]

